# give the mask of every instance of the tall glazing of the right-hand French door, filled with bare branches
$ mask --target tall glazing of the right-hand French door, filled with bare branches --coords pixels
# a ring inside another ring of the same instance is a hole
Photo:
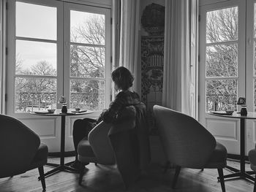
[[[238,7],[206,13],[206,111],[236,110]]]

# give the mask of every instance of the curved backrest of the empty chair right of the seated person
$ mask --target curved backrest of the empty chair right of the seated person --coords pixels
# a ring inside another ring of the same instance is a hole
[[[202,169],[216,147],[213,135],[192,117],[154,105],[167,160],[181,167]]]

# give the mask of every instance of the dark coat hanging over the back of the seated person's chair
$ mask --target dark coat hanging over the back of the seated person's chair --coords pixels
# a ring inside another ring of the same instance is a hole
[[[140,135],[140,104],[125,107],[120,123],[113,124],[108,133],[116,165],[125,186],[135,183],[141,170],[143,136]]]

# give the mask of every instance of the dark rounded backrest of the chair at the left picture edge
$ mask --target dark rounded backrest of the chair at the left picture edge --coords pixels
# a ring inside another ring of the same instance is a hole
[[[29,169],[40,139],[20,120],[0,115],[0,177],[21,174]]]

